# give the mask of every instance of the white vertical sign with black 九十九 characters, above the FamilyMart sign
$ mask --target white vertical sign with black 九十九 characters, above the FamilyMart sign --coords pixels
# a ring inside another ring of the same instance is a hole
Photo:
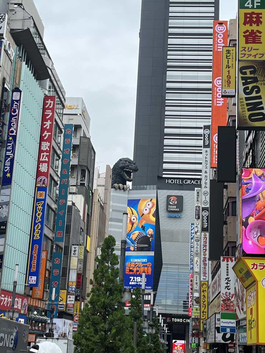
[[[221,256],[221,310],[235,311],[235,275],[232,267],[235,258]]]

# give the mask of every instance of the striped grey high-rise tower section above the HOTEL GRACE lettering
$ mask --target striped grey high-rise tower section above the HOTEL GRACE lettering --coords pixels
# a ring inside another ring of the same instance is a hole
[[[219,0],[143,0],[133,185],[200,178]]]

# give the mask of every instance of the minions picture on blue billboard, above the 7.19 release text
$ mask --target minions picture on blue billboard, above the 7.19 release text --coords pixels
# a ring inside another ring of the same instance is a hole
[[[154,251],[156,199],[128,200],[127,252]]]

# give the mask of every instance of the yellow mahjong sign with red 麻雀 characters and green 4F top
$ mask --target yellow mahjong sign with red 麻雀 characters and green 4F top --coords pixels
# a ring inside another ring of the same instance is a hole
[[[264,23],[264,0],[239,0],[239,60],[265,60]]]

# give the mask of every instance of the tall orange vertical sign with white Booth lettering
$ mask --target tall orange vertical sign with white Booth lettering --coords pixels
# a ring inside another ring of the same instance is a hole
[[[222,97],[222,48],[228,44],[228,22],[213,21],[211,167],[217,167],[217,130],[226,126],[227,98]]]

